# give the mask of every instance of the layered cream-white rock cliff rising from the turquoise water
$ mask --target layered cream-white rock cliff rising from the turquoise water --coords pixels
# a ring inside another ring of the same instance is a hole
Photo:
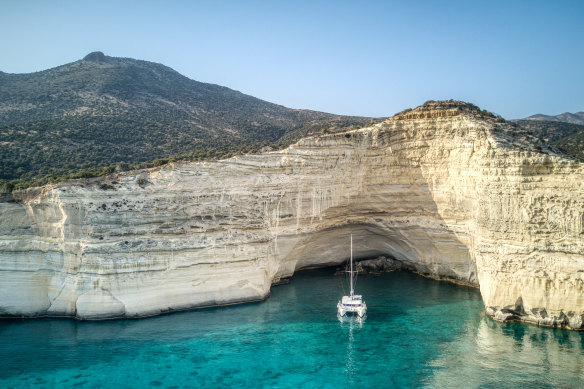
[[[346,261],[352,233],[356,258],[478,284],[497,319],[583,328],[583,178],[450,101],[283,151],[29,190],[0,203],[0,312],[259,300],[299,269]]]

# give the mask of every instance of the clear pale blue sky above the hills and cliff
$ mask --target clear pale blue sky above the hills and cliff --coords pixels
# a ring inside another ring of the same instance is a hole
[[[389,116],[460,99],[584,111],[584,1],[0,0],[0,70],[92,51],[292,108]]]

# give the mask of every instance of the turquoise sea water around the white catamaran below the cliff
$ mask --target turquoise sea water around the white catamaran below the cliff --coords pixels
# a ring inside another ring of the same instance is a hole
[[[478,290],[361,276],[364,322],[339,322],[342,277],[298,273],[261,303],[141,320],[0,321],[0,387],[584,387],[584,333],[501,324]]]

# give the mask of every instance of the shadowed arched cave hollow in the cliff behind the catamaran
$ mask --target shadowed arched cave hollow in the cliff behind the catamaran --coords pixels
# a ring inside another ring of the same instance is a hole
[[[356,263],[385,257],[388,265],[393,263],[421,276],[478,287],[476,265],[467,246],[453,232],[447,231],[446,238],[444,231],[440,232],[442,239],[435,239],[415,225],[397,228],[370,223],[321,230],[300,239],[290,249],[285,263],[294,264],[294,268],[282,278],[297,271],[345,265],[352,235]]]

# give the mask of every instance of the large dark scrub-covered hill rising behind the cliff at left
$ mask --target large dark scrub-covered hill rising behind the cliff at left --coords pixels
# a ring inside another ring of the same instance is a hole
[[[0,72],[0,113],[0,180],[13,185],[221,158],[372,121],[286,108],[101,52],[36,73]]]

